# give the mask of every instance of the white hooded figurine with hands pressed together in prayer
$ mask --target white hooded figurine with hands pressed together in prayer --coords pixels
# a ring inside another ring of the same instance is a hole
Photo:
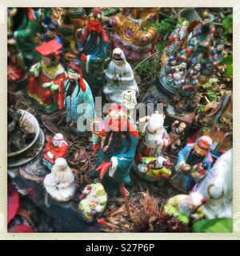
[[[119,102],[122,92],[126,90],[134,90],[135,96],[138,96],[134,71],[126,62],[125,54],[120,48],[115,48],[113,51],[113,59],[106,70],[106,80],[103,92],[110,102]]]

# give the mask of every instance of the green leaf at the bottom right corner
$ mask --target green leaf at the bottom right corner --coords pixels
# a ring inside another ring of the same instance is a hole
[[[232,218],[214,218],[199,220],[193,225],[194,233],[229,233],[232,231]]]

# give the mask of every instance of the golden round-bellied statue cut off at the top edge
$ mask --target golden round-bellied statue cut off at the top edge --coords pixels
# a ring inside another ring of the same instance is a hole
[[[122,8],[110,19],[114,47],[121,48],[127,59],[141,61],[154,53],[158,32],[150,22],[158,21],[159,8]]]

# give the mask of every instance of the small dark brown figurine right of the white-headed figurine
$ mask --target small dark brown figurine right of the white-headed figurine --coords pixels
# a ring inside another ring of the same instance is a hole
[[[181,145],[181,140],[184,137],[184,130],[186,129],[186,124],[176,120],[171,125],[171,132],[169,134],[170,137],[170,149],[175,151],[178,146]]]

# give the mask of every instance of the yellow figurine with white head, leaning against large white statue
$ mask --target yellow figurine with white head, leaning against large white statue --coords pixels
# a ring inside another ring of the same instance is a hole
[[[182,224],[188,225],[190,219],[197,221],[204,218],[204,204],[206,204],[206,198],[198,192],[178,194],[167,200],[164,212],[178,218]]]

